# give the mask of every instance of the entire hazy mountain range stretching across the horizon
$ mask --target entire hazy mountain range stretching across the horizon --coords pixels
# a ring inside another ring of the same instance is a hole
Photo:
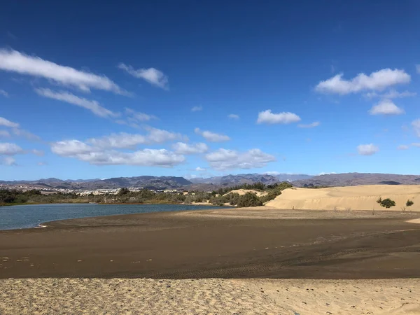
[[[39,179],[38,181],[0,181],[3,185],[31,185],[38,188],[61,188],[73,190],[112,189],[143,187],[148,189],[216,190],[221,187],[238,186],[244,183],[270,185],[290,181],[296,187],[356,186],[356,185],[416,185],[419,175],[346,173],[311,176],[307,174],[238,174],[209,178],[184,179],[176,176],[134,176],[112,179]]]

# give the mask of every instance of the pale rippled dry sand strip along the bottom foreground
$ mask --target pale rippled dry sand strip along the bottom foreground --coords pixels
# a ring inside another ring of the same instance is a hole
[[[0,314],[420,314],[420,279],[5,279]]]

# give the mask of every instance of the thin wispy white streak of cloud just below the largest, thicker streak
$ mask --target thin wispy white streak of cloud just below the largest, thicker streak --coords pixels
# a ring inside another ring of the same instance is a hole
[[[110,111],[109,109],[102,107],[101,105],[99,105],[97,101],[83,99],[82,97],[78,97],[69,92],[65,92],[65,91],[54,92],[50,89],[35,89],[35,92],[38,95],[41,95],[42,97],[48,97],[50,99],[57,99],[58,101],[62,101],[69,104],[83,107],[83,109],[88,109],[89,111],[92,111],[94,115],[102,117],[102,118],[118,116],[118,113],[113,113],[113,111]]]

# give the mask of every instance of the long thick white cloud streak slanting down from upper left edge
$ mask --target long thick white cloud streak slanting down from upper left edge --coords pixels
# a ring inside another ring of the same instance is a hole
[[[22,54],[16,50],[0,50],[0,69],[28,76],[53,80],[65,86],[77,87],[85,92],[90,89],[106,90],[118,94],[127,94],[106,76],[79,71],[70,66],[61,66],[54,62]]]

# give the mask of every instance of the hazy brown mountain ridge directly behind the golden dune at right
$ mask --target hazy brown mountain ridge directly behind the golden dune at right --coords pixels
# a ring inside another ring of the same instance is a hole
[[[420,175],[344,173],[293,181],[293,186],[419,185]]]

